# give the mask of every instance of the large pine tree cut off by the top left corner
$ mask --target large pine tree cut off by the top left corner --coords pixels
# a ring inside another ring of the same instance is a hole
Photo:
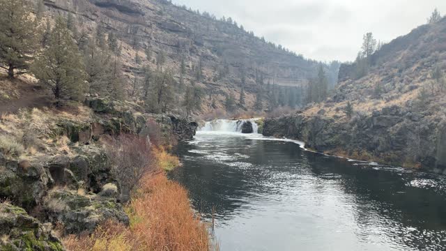
[[[0,0],[0,68],[8,77],[25,73],[38,38],[31,6],[25,0]]]

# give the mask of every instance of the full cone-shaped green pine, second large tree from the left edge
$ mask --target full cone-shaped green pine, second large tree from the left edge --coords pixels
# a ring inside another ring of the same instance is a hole
[[[88,87],[84,62],[62,17],[56,19],[48,46],[36,58],[32,70],[42,84],[49,86],[54,98],[84,98]]]

